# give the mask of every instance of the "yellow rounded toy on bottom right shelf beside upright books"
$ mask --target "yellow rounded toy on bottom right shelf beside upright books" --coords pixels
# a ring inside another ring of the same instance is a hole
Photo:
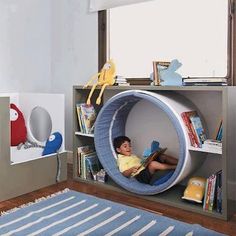
[[[182,199],[202,203],[205,192],[206,179],[203,177],[192,177],[184,191]]]

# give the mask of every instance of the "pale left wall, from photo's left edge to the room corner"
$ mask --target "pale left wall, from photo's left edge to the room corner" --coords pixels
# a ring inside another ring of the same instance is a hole
[[[51,80],[48,0],[0,1],[0,92],[48,92]]]

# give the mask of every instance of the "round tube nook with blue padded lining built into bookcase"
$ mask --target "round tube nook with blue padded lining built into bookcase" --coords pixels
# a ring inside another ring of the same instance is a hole
[[[156,186],[124,177],[117,167],[117,154],[113,147],[113,139],[125,135],[126,120],[132,107],[142,99],[166,113],[175,128],[179,142],[179,161],[174,173],[167,181]],[[163,192],[183,180],[202,163],[201,153],[188,150],[189,137],[181,113],[189,110],[196,108],[188,99],[175,92],[129,90],[111,97],[98,114],[94,133],[97,155],[108,175],[126,190],[142,195]]]

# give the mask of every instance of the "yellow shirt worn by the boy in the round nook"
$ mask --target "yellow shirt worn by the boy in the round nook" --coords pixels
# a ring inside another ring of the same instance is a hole
[[[120,172],[124,172],[134,166],[140,166],[141,165],[141,159],[137,157],[136,155],[131,156],[125,156],[122,154],[118,154],[117,158],[117,165],[119,167]],[[139,170],[136,173],[133,173],[131,176],[137,175],[139,172],[141,172],[145,167],[141,166]]]

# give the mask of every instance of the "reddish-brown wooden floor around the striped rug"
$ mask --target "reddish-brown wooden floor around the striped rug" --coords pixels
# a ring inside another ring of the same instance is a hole
[[[232,216],[229,221],[223,221],[219,219],[213,219],[200,214],[193,214],[188,211],[173,208],[163,204],[152,203],[150,201],[141,199],[139,197],[129,196],[123,193],[111,192],[104,190],[101,187],[95,187],[94,185],[88,185],[85,183],[75,182],[72,179],[72,168],[68,168],[68,180],[59,184],[55,184],[38,191],[24,194],[20,197],[10,199],[4,202],[0,202],[0,212],[18,207],[30,201],[34,201],[42,196],[48,196],[54,192],[69,188],[79,192],[95,195],[108,200],[120,202],[137,208],[145,209],[154,213],[161,213],[164,216],[168,216],[177,220],[185,221],[192,224],[200,224],[206,228],[213,229],[215,231],[232,235],[236,235],[236,214]]]

